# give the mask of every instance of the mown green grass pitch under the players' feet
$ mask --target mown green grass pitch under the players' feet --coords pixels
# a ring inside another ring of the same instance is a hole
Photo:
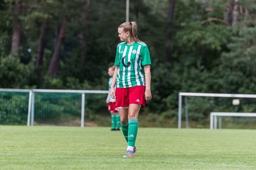
[[[256,169],[255,130],[139,128],[134,158],[110,128],[0,126],[0,169]]]

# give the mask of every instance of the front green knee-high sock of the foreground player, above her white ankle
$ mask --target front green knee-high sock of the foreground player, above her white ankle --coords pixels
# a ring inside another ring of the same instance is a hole
[[[128,146],[134,147],[138,132],[138,119],[129,119]]]

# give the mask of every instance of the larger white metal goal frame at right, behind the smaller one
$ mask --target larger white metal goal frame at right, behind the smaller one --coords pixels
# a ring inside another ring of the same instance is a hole
[[[225,97],[225,98],[256,98],[255,94],[208,94],[208,93],[178,93],[178,128],[181,128],[182,96]]]

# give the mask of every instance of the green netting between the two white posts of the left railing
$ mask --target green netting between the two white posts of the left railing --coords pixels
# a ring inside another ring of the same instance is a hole
[[[81,115],[80,94],[35,94],[35,122],[63,125]]]

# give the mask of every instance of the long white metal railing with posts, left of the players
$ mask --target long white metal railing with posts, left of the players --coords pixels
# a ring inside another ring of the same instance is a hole
[[[28,119],[27,125],[33,125],[34,123],[34,101],[35,93],[67,93],[67,94],[81,94],[81,127],[84,127],[85,123],[85,94],[108,94],[109,91],[100,90],[62,90],[62,89],[0,89],[0,91],[9,92],[27,92],[28,97]]]

